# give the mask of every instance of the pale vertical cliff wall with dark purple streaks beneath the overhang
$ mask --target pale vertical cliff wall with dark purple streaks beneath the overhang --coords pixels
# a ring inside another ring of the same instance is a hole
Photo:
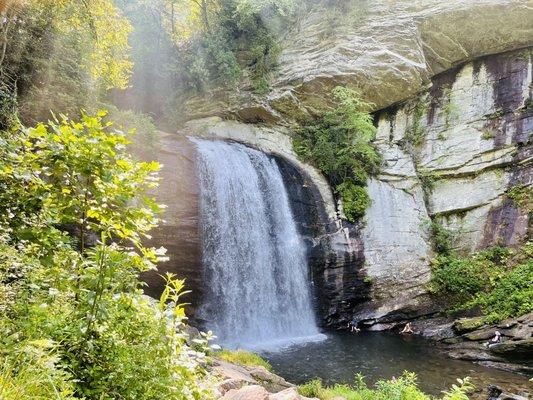
[[[531,204],[509,191],[532,190],[531,70],[528,51],[488,56],[379,113],[376,143],[385,161],[369,182],[373,201],[362,230],[375,301],[356,320],[373,325],[431,312],[431,220],[453,231],[463,252],[530,236]]]

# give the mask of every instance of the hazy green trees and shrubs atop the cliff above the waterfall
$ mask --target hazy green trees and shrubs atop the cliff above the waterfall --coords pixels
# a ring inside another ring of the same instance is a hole
[[[161,7],[188,89],[235,86],[246,71],[256,91],[266,93],[268,74],[277,67],[281,26],[295,0],[170,0]]]

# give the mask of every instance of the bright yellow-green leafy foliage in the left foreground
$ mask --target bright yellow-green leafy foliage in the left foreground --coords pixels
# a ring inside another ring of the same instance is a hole
[[[135,162],[126,135],[103,117],[0,135],[0,390],[209,398],[204,354],[186,345],[183,281],[167,276],[154,304],[138,280],[163,255],[142,244],[158,222],[160,207],[143,194],[157,185],[158,165]],[[40,343],[30,367],[19,357]]]

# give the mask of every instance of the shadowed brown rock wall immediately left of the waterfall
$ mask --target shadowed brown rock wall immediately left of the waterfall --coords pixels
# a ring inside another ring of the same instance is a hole
[[[155,195],[166,205],[160,226],[154,229],[147,245],[165,247],[169,260],[159,265],[158,271],[143,274],[148,283],[145,292],[158,298],[164,288],[161,275],[166,272],[186,279],[191,293],[183,298],[191,303],[191,315],[202,294],[200,235],[198,230],[198,183],[196,180],[194,146],[185,136],[159,133],[151,147],[135,146],[135,154],[144,160],[162,164],[161,183]]]

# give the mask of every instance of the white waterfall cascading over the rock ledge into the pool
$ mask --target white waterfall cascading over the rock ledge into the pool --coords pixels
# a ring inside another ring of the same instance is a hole
[[[276,161],[238,143],[192,140],[207,288],[198,317],[226,347],[316,338],[305,246]]]

